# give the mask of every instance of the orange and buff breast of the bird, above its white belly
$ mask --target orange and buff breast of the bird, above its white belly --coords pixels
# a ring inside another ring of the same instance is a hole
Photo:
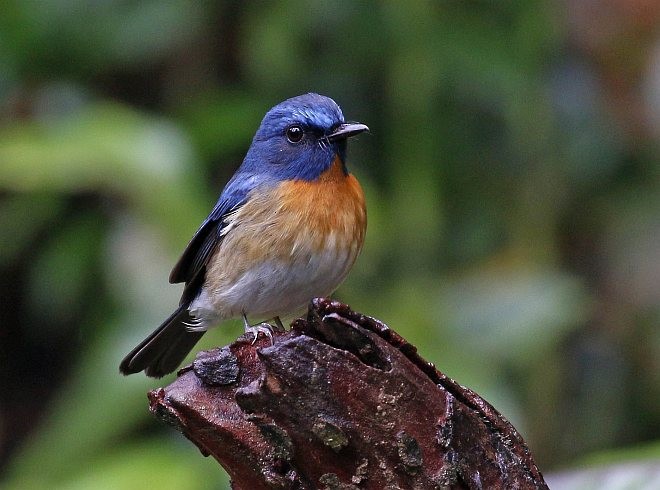
[[[337,158],[314,182],[286,181],[251,195],[225,221],[227,233],[207,273],[217,289],[255,264],[306,264],[314,254],[344,257],[347,273],[364,242],[367,212],[360,184]]]

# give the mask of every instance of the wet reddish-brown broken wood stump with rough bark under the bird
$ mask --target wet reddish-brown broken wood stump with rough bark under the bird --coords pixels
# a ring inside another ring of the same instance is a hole
[[[504,417],[378,320],[316,299],[250,340],[149,393],[235,489],[547,488]]]

